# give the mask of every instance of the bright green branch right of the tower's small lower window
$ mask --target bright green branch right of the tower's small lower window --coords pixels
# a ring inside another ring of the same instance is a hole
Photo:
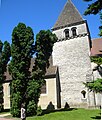
[[[90,91],[95,91],[96,93],[102,92],[102,79],[98,78],[95,81],[84,83],[84,84]]]

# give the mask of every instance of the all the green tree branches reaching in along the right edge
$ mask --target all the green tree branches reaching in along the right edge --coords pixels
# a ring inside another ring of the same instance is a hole
[[[84,0],[84,1],[92,1],[92,0]],[[102,23],[102,0],[95,0],[95,2],[91,3],[87,10],[85,11],[84,15],[90,15],[90,14],[100,14],[100,20]],[[99,35],[102,36],[102,26],[99,27],[100,33]],[[98,65],[102,64],[102,58],[101,57],[91,57],[91,60]],[[88,87],[89,90],[99,92],[102,96],[102,79],[97,79],[95,81],[85,83],[85,86]],[[102,120],[102,97],[101,97],[101,120]]]

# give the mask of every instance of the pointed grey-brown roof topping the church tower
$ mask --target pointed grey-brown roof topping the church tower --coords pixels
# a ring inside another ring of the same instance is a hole
[[[71,0],[68,0],[52,29],[63,27],[80,21],[83,21],[82,16],[73,5]]]

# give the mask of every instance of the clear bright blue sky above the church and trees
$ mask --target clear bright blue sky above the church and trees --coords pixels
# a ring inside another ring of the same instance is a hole
[[[51,29],[67,0],[0,0],[0,40],[11,43],[12,31],[19,22],[30,26],[36,34]],[[84,16],[88,2],[72,0],[83,19],[87,20],[91,38],[98,38],[99,15]]]

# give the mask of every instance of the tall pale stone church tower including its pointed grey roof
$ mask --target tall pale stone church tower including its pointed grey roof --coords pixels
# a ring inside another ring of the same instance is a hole
[[[91,40],[86,20],[83,20],[71,0],[68,0],[52,28],[58,41],[53,47],[53,65],[59,68],[61,107],[94,106],[94,94],[84,82],[92,79],[90,62]]]

